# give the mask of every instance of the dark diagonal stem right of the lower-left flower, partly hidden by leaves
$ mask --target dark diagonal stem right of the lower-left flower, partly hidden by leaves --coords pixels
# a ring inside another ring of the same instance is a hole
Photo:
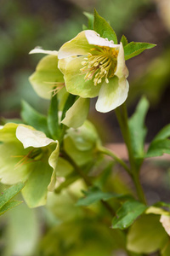
[[[71,159],[70,155],[67,154],[65,151],[62,151],[63,156],[65,157],[65,160],[68,160],[71,163],[71,166],[74,167],[75,171],[80,175],[80,177],[83,178],[84,182],[87,184],[88,187],[93,186],[93,183],[91,182],[91,179],[82,171],[82,169],[77,166],[77,163]],[[116,215],[116,212],[112,209],[110,204],[107,201],[100,200],[103,206],[111,213],[111,216],[114,217]]]

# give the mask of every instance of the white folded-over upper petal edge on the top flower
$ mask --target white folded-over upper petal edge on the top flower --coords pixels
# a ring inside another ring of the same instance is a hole
[[[109,41],[107,38],[100,38],[99,34],[97,32],[94,32],[93,30],[86,30],[85,36],[88,39],[88,44],[107,46],[110,48],[120,47],[120,44],[114,44],[112,40]]]

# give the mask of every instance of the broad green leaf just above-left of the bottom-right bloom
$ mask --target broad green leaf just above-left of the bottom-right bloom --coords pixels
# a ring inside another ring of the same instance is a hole
[[[139,201],[126,201],[116,212],[116,217],[112,219],[112,228],[124,230],[133,224],[145,210],[146,206]]]

